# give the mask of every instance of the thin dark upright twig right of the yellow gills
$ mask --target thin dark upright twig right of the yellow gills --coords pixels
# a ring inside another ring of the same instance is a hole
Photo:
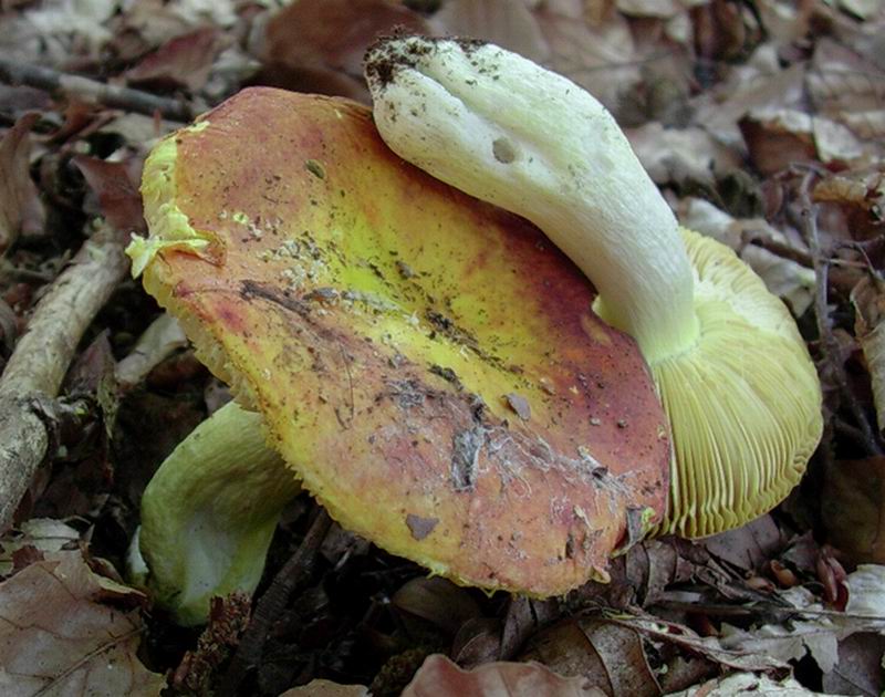
[[[826,290],[827,281],[826,275],[829,271],[829,262],[821,254],[821,241],[818,236],[818,207],[811,202],[809,196],[809,187],[811,185],[811,177],[814,173],[805,175],[802,186],[799,191],[799,200],[802,208],[802,232],[805,236],[809,247],[811,248],[811,257],[814,262],[814,277],[816,280],[816,288],[814,292],[814,313],[818,318],[818,333],[821,337],[821,351],[826,363],[832,370],[833,377],[835,378],[836,386],[839,387],[840,396],[845,400],[848,406],[854,420],[857,422],[857,427],[861,429],[863,436],[862,443],[866,447],[870,455],[882,455],[882,441],[879,440],[873,427],[870,425],[861,403],[855,397],[848,385],[847,375],[845,375],[845,366],[839,360],[840,348],[839,341],[831,331],[830,311],[826,308]]]

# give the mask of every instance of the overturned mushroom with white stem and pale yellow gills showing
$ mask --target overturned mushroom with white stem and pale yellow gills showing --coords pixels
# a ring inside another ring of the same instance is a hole
[[[534,222],[634,336],[674,446],[662,530],[702,537],[767,512],[821,436],[821,388],[784,304],[728,248],[680,228],[611,114],[496,45],[383,40],[366,59],[391,148]]]

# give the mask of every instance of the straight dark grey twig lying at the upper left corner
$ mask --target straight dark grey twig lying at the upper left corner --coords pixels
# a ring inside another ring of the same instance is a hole
[[[197,116],[194,106],[184,100],[160,97],[149,92],[110,85],[82,75],[61,73],[41,65],[17,63],[3,58],[0,58],[0,81],[12,85],[39,87],[50,93],[76,96],[148,116],[159,113],[165,118],[180,123],[187,123]]]

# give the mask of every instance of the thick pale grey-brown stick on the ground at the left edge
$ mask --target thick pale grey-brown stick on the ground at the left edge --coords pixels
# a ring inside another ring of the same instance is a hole
[[[110,227],[81,247],[38,303],[0,376],[0,531],[51,455],[54,397],[83,332],[129,268],[123,247]]]

